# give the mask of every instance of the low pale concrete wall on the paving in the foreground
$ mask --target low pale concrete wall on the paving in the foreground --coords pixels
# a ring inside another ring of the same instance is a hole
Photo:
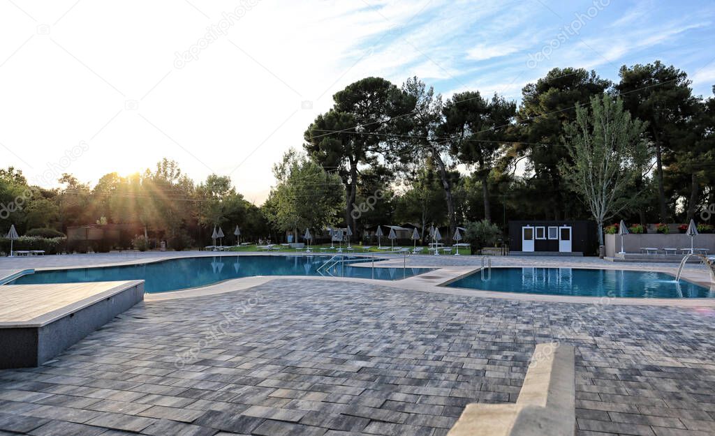
[[[573,436],[576,365],[570,345],[536,345],[514,404],[467,405],[448,436]]]

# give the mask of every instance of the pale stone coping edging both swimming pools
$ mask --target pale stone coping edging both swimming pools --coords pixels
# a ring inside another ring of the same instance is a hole
[[[147,264],[154,262],[162,262],[171,259],[183,259],[187,257],[240,257],[240,256],[330,256],[331,254],[314,254],[314,253],[262,253],[262,252],[247,252],[241,254],[235,254],[232,252],[221,252],[204,254],[197,256],[192,253],[192,256],[182,256],[180,254],[175,256],[160,257],[154,259],[133,259],[128,262],[107,262],[102,264],[94,265],[75,265],[72,267],[37,267],[34,268],[35,271],[49,271],[58,269],[82,269],[82,268],[99,268],[99,267],[117,267],[132,264]],[[353,254],[355,256],[360,256],[360,253]],[[369,255],[369,254],[368,254]],[[383,254],[385,256],[385,254]],[[431,256],[431,254],[421,254],[411,256],[410,259],[420,259],[420,257]],[[382,256],[376,256],[378,259]],[[380,265],[375,267],[397,267],[398,265],[390,264],[403,260],[403,257],[383,257],[380,259]],[[568,263],[568,260],[564,260]],[[401,266],[402,262],[400,262]],[[157,292],[157,293],[147,293],[145,294],[145,301],[158,301],[162,299],[174,299],[174,298],[189,298],[189,297],[202,297],[205,295],[212,294],[222,294],[225,292],[239,291],[250,289],[251,287],[258,286],[260,284],[265,284],[271,282],[272,280],[280,279],[297,279],[297,280],[335,280],[343,282],[359,282],[364,284],[375,284],[382,285],[386,287],[394,287],[397,289],[420,291],[420,292],[435,292],[439,294],[454,294],[454,295],[464,295],[471,297],[482,297],[482,298],[497,298],[497,299],[513,299],[519,301],[536,301],[536,302],[561,302],[561,303],[578,303],[578,304],[604,304],[604,299],[607,300],[607,304],[617,304],[617,305],[632,305],[632,306],[661,306],[661,307],[715,307],[715,298],[638,298],[638,297],[579,297],[573,295],[550,295],[550,294],[523,294],[518,292],[503,292],[503,291],[489,291],[483,289],[468,289],[460,287],[447,287],[446,285],[450,282],[454,282],[461,279],[469,274],[474,274],[479,272],[481,267],[475,265],[465,265],[465,266],[435,266],[435,265],[420,265],[411,264],[410,268],[425,268],[432,269],[430,272],[425,272],[423,274],[418,274],[413,277],[407,277],[405,279],[398,280],[382,280],[382,279],[362,279],[355,277],[320,277],[320,276],[290,276],[290,275],[276,275],[276,276],[252,276],[252,277],[239,277],[236,279],[228,279],[222,282],[207,284],[202,287],[194,287],[187,289],[178,289],[176,291],[167,292]],[[508,267],[518,267],[514,265],[498,265],[493,268],[508,268]],[[531,265],[531,267],[540,267],[537,265]],[[553,265],[544,264],[544,268],[553,267]],[[568,268],[578,268],[578,269],[623,269],[628,271],[641,271],[640,267],[635,265],[624,265],[624,264],[613,264],[603,265],[603,266],[582,266],[582,265],[568,265],[564,266]],[[670,271],[667,267],[653,267],[650,269],[654,272],[664,272],[666,274],[675,275],[673,271]],[[14,273],[16,274],[17,271]],[[425,276],[425,274],[428,274]],[[699,272],[694,272],[692,270],[686,270],[684,272],[683,279],[687,279],[690,282],[700,284],[704,287],[710,287],[712,289],[712,284],[709,283],[709,276],[704,275],[708,280],[699,277]],[[0,278],[1,280],[1,278]],[[238,287],[236,287],[238,286]],[[160,297],[163,296],[163,297]]]

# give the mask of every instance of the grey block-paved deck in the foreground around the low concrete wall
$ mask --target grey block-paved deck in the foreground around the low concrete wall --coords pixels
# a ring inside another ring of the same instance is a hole
[[[144,302],[0,371],[0,435],[445,435],[514,402],[534,345],[576,346],[578,435],[715,434],[713,309],[277,279]]]

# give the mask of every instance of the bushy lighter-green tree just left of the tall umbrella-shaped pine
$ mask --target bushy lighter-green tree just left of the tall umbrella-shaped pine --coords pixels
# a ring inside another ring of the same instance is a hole
[[[281,231],[322,229],[342,208],[342,182],[312,159],[290,149],[273,167],[278,181],[265,204],[269,221]]]

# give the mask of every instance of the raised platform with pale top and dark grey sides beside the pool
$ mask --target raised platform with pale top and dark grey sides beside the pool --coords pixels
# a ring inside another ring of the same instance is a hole
[[[0,286],[0,369],[38,366],[144,299],[144,280]]]

